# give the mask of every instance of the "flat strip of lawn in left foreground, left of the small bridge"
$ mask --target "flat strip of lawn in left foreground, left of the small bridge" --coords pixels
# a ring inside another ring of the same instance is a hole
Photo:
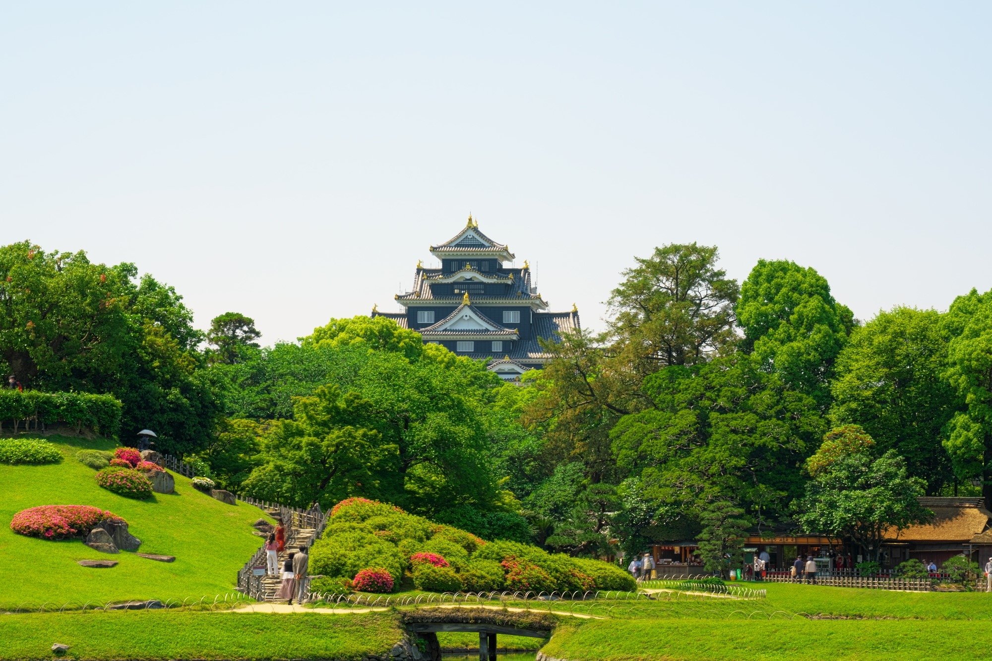
[[[0,615],[0,660],[360,659],[402,638],[395,616],[128,611]]]

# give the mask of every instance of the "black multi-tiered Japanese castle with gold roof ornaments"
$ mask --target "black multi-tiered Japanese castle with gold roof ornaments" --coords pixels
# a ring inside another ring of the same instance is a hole
[[[420,333],[425,343],[440,344],[459,356],[487,360],[490,371],[505,380],[544,367],[548,354],[538,338],[556,341],[559,333],[579,328],[578,310],[549,312],[548,303],[531,283],[531,268],[505,266],[514,259],[510,248],[496,243],[468,224],[454,237],[431,246],[440,269],[420,262],[413,290],[394,298],[404,312],[372,316],[393,319]]]

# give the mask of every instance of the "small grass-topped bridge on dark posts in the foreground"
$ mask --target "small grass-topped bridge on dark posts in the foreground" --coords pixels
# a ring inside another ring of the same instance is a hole
[[[488,608],[418,608],[402,613],[403,623],[414,637],[427,642],[426,655],[440,660],[437,633],[467,631],[479,634],[479,661],[495,661],[497,634],[548,638],[558,619],[548,613],[511,612]]]

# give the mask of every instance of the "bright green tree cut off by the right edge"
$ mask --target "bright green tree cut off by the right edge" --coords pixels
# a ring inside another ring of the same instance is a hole
[[[944,317],[945,376],[964,404],[947,424],[944,448],[954,474],[982,481],[985,506],[992,506],[992,291],[972,289],[954,299]]]

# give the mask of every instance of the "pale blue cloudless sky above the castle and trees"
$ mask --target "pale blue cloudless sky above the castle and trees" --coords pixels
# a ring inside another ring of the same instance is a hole
[[[992,288],[988,3],[0,1],[0,244],[271,344],[400,310],[471,213],[601,329],[634,256],[860,319]]]

